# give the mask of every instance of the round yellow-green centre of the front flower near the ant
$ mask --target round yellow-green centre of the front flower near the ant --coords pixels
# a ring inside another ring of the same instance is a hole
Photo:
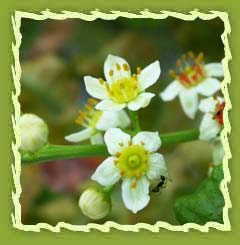
[[[145,174],[149,152],[145,150],[143,145],[130,145],[116,156],[118,159],[115,163],[119,167],[122,177],[139,178]]]

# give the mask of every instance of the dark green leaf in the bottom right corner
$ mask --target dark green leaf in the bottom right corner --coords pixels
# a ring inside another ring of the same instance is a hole
[[[224,198],[219,187],[222,179],[222,165],[218,165],[194,194],[181,197],[175,202],[174,213],[180,224],[204,225],[210,221],[223,223]]]

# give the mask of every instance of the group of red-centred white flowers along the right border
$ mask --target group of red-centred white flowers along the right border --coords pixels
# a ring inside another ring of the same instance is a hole
[[[204,113],[200,123],[199,139],[209,141],[213,146],[213,163],[221,163],[224,150],[220,140],[223,127],[225,101],[217,93],[221,89],[218,80],[224,76],[221,63],[203,63],[203,53],[195,56],[184,54],[176,62],[176,70],[170,70],[174,81],[160,93],[163,101],[171,101],[179,96],[184,113],[194,119],[197,111]],[[199,95],[204,96],[199,102]]]

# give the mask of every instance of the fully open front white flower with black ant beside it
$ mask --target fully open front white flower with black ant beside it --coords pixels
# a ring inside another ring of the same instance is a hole
[[[133,213],[149,202],[152,179],[168,176],[164,158],[156,153],[161,145],[157,132],[139,132],[132,139],[118,128],[108,129],[104,140],[111,154],[96,169],[92,179],[110,186],[122,179],[122,198]]]

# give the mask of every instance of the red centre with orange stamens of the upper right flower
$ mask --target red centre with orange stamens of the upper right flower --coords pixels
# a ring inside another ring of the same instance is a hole
[[[197,57],[192,52],[183,55],[182,59],[177,60],[176,65],[178,72],[170,70],[170,75],[177,79],[184,87],[190,88],[201,83],[206,75],[202,65],[203,53]]]

